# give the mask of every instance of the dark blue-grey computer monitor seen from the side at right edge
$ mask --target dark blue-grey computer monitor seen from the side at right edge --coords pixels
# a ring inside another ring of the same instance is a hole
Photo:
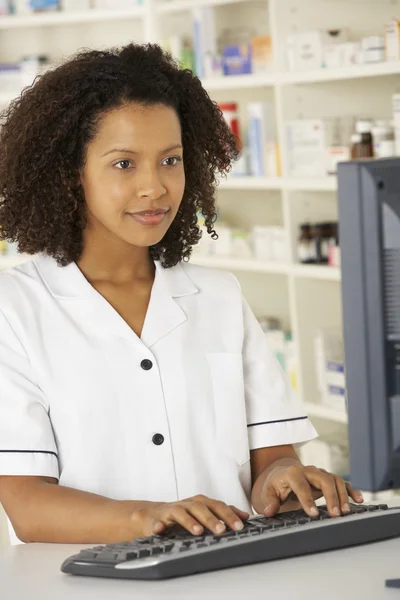
[[[400,158],[339,165],[350,475],[400,487]]]

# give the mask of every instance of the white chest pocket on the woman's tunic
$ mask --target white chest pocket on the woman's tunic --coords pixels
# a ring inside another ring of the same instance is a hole
[[[239,352],[208,353],[214,394],[217,444],[243,465],[250,459],[244,396],[243,363]]]

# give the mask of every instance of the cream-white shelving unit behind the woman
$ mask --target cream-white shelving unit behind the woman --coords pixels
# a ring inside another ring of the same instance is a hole
[[[397,5],[397,7],[396,7]],[[214,6],[221,28],[245,23],[273,39],[271,72],[205,79],[216,100],[243,105],[252,99],[273,99],[281,148],[281,178],[229,177],[218,188],[221,214],[240,223],[280,225],[289,240],[287,264],[204,257],[193,261],[237,273],[256,313],[282,318],[297,341],[299,390],[310,415],[345,426],[343,413],[318,404],[312,337],[316,328],[341,329],[340,270],[296,264],[296,239],[302,221],[337,218],[337,180],[293,179],[287,175],[284,122],[296,118],[371,115],[390,118],[391,94],[398,90],[400,62],[289,73],[284,41],[294,31],[349,27],[357,37],[378,34],[397,12],[392,0],[145,0],[127,11],[82,11],[28,17],[0,17],[0,57],[18,60],[24,54],[54,51],[56,58],[79,46],[104,47],[128,41],[159,41],[171,33],[191,31],[191,10]],[[262,15],[262,18],[260,17]],[[83,25],[85,27],[83,27]],[[44,30],[45,28],[45,30]],[[21,29],[21,31],[17,31]],[[45,32],[45,33],[44,33]],[[45,44],[53,44],[51,47]],[[0,107],[10,94],[1,94]],[[0,258],[0,268],[5,266]]]

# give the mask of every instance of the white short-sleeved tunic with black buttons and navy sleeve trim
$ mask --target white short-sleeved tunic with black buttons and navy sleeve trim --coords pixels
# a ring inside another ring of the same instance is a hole
[[[141,338],[76,263],[0,274],[0,475],[249,511],[250,449],[316,435],[230,273],[157,262]]]

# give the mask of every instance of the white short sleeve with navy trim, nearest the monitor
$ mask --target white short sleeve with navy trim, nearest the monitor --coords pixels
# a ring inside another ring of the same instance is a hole
[[[249,446],[293,444],[318,437],[266,336],[243,299],[243,370]]]

